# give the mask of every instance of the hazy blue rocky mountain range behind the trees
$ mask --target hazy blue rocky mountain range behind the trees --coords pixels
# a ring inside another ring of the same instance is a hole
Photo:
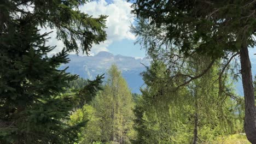
[[[113,55],[103,51],[95,56],[69,55],[69,58],[71,61],[60,68],[69,67],[67,72],[91,80],[97,75],[106,74],[113,63],[117,64],[132,92],[136,93],[139,93],[139,88],[144,83],[139,74],[146,70],[144,65],[149,65],[150,63],[146,58],[135,59],[134,57]]]

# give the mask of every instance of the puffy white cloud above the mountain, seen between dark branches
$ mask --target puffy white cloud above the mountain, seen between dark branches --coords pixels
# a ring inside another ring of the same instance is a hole
[[[107,32],[107,40],[100,43],[99,45],[92,45],[91,55],[96,55],[100,51],[108,51],[108,46],[114,41],[119,41],[123,39],[135,40],[136,37],[130,32],[130,25],[133,23],[133,15],[131,14],[131,3],[123,0],[114,0],[112,3],[107,3],[104,0],[93,1],[86,3],[85,5],[79,7],[81,11],[92,15],[93,17],[98,17],[99,15],[108,15],[105,29]],[[41,33],[54,31],[49,34],[48,43],[51,46],[56,45],[57,47],[51,52],[57,53],[61,51],[64,47],[62,41],[56,39],[56,29],[43,28]],[[79,53],[82,55],[82,52]]]

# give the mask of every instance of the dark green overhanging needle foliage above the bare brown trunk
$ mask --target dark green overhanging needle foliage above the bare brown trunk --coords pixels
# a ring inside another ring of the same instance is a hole
[[[226,56],[226,52],[238,52],[242,43],[255,45],[253,0],[142,0],[136,1],[133,8],[141,22],[164,27],[164,38],[186,55],[197,52],[219,58]],[[201,44],[195,47],[199,41]]]

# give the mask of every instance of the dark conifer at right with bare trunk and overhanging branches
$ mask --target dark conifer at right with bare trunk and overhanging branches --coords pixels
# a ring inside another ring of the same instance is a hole
[[[178,87],[203,76],[216,61],[223,62],[223,70],[219,73],[221,82],[232,59],[240,56],[245,94],[244,127],[247,139],[253,144],[256,143],[256,110],[248,48],[256,44],[255,7],[255,0],[139,0],[133,4],[133,12],[138,17],[134,32],[144,41],[148,52],[159,49],[160,43],[168,43],[166,49],[155,50],[155,55],[166,53],[165,58],[173,61],[193,53],[211,58],[208,67],[197,75],[173,74],[173,78],[182,76],[185,79]]]

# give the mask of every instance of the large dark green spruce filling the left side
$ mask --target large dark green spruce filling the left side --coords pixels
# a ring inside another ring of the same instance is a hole
[[[66,122],[77,98],[61,94],[76,75],[57,67],[68,63],[67,52],[90,51],[106,39],[105,18],[77,10],[86,1],[31,0],[0,2],[0,143],[73,143],[79,127]],[[47,35],[39,27],[57,29],[65,44],[57,55],[47,53]],[[101,82],[89,81],[94,88]],[[94,92],[95,89],[88,89]],[[91,96],[90,96],[91,97]]]

